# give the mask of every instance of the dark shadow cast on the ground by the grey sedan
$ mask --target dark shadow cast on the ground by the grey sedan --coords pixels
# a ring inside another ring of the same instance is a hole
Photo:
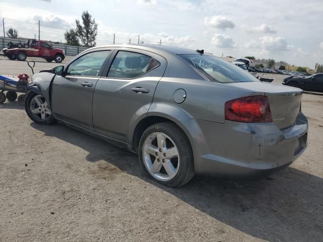
[[[288,167],[262,180],[195,176],[182,188],[161,186],[141,171],[137,155],[63,125],[31,127],[88,152],[89,162],[104,160],[139,177],[199,211],[251,236],[269,241],[321,241],[323,179]],[[106,167],[98,165],[97,178]]]

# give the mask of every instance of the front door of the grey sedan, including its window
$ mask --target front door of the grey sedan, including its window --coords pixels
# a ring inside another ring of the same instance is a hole
[[[94,87],[111,55],[112,49],[86,52],[57,75],[51,91],[51,109],[56,118],[94,130],[92,100]]]

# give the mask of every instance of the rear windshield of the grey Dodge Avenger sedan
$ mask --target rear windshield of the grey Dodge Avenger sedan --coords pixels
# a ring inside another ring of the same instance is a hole
[[[215,56],[181,54],[189,64],[200,70],[211,81],[221,83],[259,82],[254,76],[240,67]]]

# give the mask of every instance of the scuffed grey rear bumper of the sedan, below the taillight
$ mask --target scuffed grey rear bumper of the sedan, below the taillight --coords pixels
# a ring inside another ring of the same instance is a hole
[[[197,124],[192,126],[192,122]],[[308,123],[299,113],[294,126],[280,130],[274,123],[225,124],[186,119],[196,173],[250,177],[266,175],[291,164],[307,146]],[[191,123],[191,124],[190,124]],[[199,128],[196,131],[196,127]]]

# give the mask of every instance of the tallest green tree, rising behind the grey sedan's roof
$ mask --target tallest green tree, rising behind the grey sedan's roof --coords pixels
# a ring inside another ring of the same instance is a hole
[[[92,15],[90,15],[87,10],[82,13],[81,18],[82,24],[79,20],[75,20],[77,35],[86,47],[95,46],[97,23],[95,23],[95,19],[92,19]]]

